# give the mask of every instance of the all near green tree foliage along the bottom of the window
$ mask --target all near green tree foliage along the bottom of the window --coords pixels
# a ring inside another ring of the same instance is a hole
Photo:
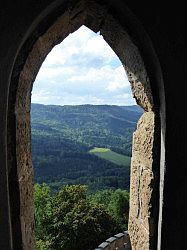
[[[46,184],[35,184],[36,248],[93,250],[124,229],[120,218],[128,213],[127,196],[107,190],[88,197],[82,185],[64,186],[51,196]]]

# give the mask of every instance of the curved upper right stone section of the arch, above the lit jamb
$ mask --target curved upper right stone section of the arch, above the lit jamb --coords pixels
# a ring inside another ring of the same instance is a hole
[[[128,33],[115,22],[112,16],[107,15],[101,27],[101,34],[121,60],[136,102],[146,111],[153,110],[149,77],[139,50]]]

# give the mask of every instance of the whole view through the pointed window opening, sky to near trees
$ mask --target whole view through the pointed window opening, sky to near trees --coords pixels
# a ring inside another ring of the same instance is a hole
[[[143,110],[99,32],[81,26],[53,48],[31,102],[36,248],[92,250],[128,230],[132,134]]]

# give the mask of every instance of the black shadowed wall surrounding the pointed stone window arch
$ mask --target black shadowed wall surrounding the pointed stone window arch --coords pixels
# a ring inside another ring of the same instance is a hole
[[[75,1],[24,0],[18,4],[18,1],[2,0],[0,3],[0,249],[22,249],[22,244],[19,244],[22,243],[22,228],[19,217],[16,125],[15,112],[12,111],[19,74],[33,44],[52,25],[59,12],[63,13],[66,3],[72,2]],[[110,12],[121,24],[140,50],[150,78],[154,104],[156,100],[156,110],[160,115],[161,159],[160,164],[155,164],[155,168],[161,168],[161,182],[157,187],[160,192],[159,233],[158,248],[153,249],[187,249],[185,1],[180,4],[173,1],[169,5],[159,0],[97,2],[107,7],[107,13]],[[116,35],[114,32],[113,40]],[[152,207],[155,207],[155,201],[150,201]]]

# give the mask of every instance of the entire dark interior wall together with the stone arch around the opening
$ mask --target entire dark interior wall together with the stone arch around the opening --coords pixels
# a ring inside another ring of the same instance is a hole
[[[32,84],[51,49],[81,25],[100,31],[144,109],[133,135],[132,249],[187,249],[187,130],[179,114],[186,112],[182,6],[168,12],[159,1],[10,2],[3,1],[0,9],[0,249],[34,249]],[[173,19],[176,13],[181,14]]]

